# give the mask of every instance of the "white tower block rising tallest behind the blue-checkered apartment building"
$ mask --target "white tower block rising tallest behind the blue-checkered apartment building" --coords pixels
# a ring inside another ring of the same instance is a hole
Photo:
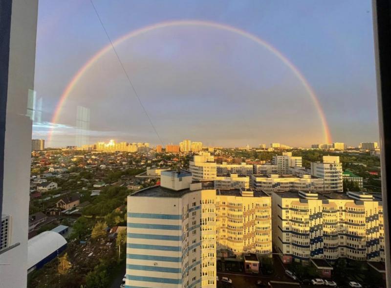
[[[311,175],[325,180],[326,192],[343,191],[339,156],[323,156],[323,162],[311,162]]]

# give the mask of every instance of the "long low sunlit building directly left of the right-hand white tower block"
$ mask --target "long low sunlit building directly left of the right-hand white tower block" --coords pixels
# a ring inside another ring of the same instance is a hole
[[[263,190],[267,193],[289,190],[325,191],[324,179],[308,174],[303,174],[300,177],[278,174],[252,175],[251,178],[254,189]]]

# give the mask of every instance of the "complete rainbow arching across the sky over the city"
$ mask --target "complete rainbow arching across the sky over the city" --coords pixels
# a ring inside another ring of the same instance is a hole
[[[307,80],[303,76],[303,74],[276,48],[271,46],[269,43],[263,41],[262,39],[258,38],[257,36],[248,33],[246,31],[243,31],[241,29],[238,29],[236,27],[232,27],[226,24],[219,24],[219,23],[214,23],[214,22],[206,22],[206,21],[196,21],[196,20],[182,20],[182,21],[171,21],[171,22],[162,22],[162,23],[157,23],[157,24],[152,24],[150,26],[146,26],[134,31],[131,31],[130,33],[127,33],[123,35],[122,37],[116,39],[113,42],[114,46],[120,45],[121,43],[137,37],[139,35],[148,33],[152,30],[156,29],[164,29],[168,27],[173,27],[173,26],[203,26],[203,27],[208,27],[208,28],[215,28],[215,29],[220,29],[220,30],[225,30],[229,31],[232,33],[239,34],[247,39],[250,39],[257,44],[261,45],[262,47],[268,49],[270,52],[272,52],[275,56],[277,56],[295,75],[296,77],[300,80],[302,85],[304,86],[305,90],[311,97],[316,109],[318,110],[318,115],[319,118],[322,122],[323,129],[324,129],[324,135],[325,135],[325,143],[331,143],[331,135],[330,131],[327,125],[325,113],[322,110],[322,107],[319,103],[318,98],[315,95],[315,92],[311,88],[311,86],[308,84]],[[111,44],[105,46],[101,50],[99,50],[95,55],[93,55],[80,69],[79,71],[74,74],[72,77],[71,81],[68,83],[68,85],[65,87],[65,90],[63,91],[63,94],[61,95],[61,98],[59,102],[57,103],[56,109],[54,111],[53,117],[51,122],[52,123],[57,123],[61,114],[62,107],[66,101],[66,99],[69,97],[73,89],[76,87],[76,85],[79,83],[80,79],[83,77],[83,75],[107,52],[109,52],[112,49]],[[51,139],[52,139],[52,134],[53,134],[53,129],[52,128],[49,131],[48,135],[48,142],[51,144]]]

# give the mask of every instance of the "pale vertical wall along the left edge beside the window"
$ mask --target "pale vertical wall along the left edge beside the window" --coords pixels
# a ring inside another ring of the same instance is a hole
[[[29,89],[34,89],[38,0],[12,2],[2,214],[12,217],[10,244],[20,245],[0,255],[0,287],[23,288],[27,286],[32,128],[25,115]]]

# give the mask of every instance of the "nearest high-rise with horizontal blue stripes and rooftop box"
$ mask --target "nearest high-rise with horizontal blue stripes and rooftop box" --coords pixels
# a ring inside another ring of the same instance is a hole
[[[184,170],[128,196],[129,287],[216,287],[216,190]],[[148,213],[146,213],[148,212]]]

